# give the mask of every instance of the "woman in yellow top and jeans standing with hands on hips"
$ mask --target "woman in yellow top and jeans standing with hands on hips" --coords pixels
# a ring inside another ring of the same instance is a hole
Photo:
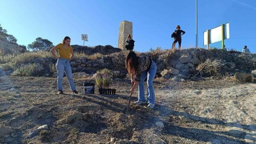
[[[58,49],[58,55],[55,55],[55,51]],[[77,94],[76,87],[72,78],[72,69],[70,66],[70,60],[74,57],[73,48],[70,46],[70,37],[64,37],[62,43],[59,43],[57,46],[54,46],[51,49],[51,53],[54,58],[57,58],[57,72],[58,72],[58,79],[57,79],[57,87],[58,87],[58,94],[63,94],[62,91],[62,81],[64,72],[67,76],[67,79],[70,84],[70,88],[73,94]],[[70,56],[71,54],[71,56]]]

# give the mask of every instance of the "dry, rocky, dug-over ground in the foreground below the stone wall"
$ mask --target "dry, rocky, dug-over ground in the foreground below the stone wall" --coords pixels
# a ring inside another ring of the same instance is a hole
[[[157,78],[156,107],[133,104],[135,93],[126,115],[129,80],[114,81],[117,95],[84,95],[92,77],[74,79],[79,94],[64,78],[66,94],[55,95],[56,78],[0,77],[0,143],[256,143],[255,83]]]

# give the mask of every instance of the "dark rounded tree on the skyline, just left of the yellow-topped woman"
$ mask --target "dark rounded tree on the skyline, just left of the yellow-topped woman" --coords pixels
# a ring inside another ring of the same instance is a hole
[[[39,51],[39,50],[46,50],[50,46],[53,46],[51,41],[38,37],[35,39],[33,43],[28,45],[28,49]]]

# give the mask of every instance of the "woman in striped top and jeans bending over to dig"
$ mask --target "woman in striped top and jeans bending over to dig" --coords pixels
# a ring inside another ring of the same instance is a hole
[[[126,56],[125,67],[131,75],[131,83],[133,84],[130,92],[134,93],[134,89],[139,84],[138,101],[135,104],[147,104],[149,108],[155,106],[155,95],[153,80],[157,72],[157,65],[147,56],[137,56],[135,52],[129,52]],[[134,78],[134,76],[136,76]],[[144,80],[147,78],[148,93],[147,101],[145,100]]]

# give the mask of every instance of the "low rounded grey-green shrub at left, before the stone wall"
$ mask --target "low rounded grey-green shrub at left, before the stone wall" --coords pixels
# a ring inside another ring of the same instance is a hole
[[[16,76],[35,76],[41,71],[41,66],[35,63],[28,64],[16,69],[12,75]]]

